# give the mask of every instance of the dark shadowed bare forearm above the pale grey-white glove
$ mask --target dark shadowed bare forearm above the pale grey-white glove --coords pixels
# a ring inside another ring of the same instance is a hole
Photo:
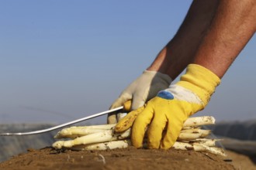
[[[185,67],[192,63],[196,49],[216,11],[218,1],[197,0],[192,2],[189,12],[175,37],[161,50],[147,70],[166,73],[174,80]]]

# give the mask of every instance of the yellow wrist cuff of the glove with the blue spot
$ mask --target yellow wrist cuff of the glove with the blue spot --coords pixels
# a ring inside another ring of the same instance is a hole
[[[186,73],[176,84],[195,93],[205,107],[216,87],[220,84],[220,78],[203,66],[189,64]]]

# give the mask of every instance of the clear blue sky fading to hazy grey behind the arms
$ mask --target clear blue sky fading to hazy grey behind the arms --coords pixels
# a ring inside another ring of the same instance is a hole
[[[108,110],[191,2],[0,0],[0,124],[61,124]],[[196,115],[256,120],[255,45],[254,36]]]

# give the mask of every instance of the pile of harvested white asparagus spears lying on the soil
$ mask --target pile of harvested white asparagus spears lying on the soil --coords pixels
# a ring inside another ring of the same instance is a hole
[[[221,148],[216,148],[219,139],[206,138],[209,130],[201,129],[201,126],[214,124],[214,117],[190,117],[183,124],[178,140],[172,148],[181,150],[208,151],[215,155],[226,156]],[[127,148],[131,145],[130,129],[123,133],[114,131],[116,124],[104,124],[95,126],[80,126],[64,128],[54,138],[69,138],[66,141],[56,141],[53,147],[56,149],[70,148],[72,150],[106,150],[115,148]],[[147,147],[145,142],[144,147]]]

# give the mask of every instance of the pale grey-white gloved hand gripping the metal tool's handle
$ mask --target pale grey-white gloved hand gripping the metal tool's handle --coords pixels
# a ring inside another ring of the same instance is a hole
[[[168,88],[170,84],[171,77],[167,74],[145,70],[137,80],[123,90],[110,109],[120,107],[127,100],[132,100],[131,110],[135,110],[143,106],[147,100],[155,97],[160,90]],[[109,114],[108,123],[116,123],[116,114]]]

